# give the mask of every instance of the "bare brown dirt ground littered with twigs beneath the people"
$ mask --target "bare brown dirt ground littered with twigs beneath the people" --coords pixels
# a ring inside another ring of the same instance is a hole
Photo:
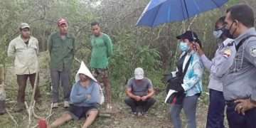
[[[43,104],[38,106],[36,109],[36,114],[41,117],[46,117],[49,112],[50,107],[50,95],[44,97]],[[158,100],[156,104],[149,110],[149,114],[147,116],[137,117],[131,114],[131,110],[129,107],[124,105],[124,102],[121,100],[114,102],[114,113],[110,114],[110,116],[106,116],[106,114],[100,114],[97,117],[96,121],[92,124],[91,128],[171,128],[173,127],[171,124],[171,120],[169,119],[169,106],[164,104],[161,95],[156,96]],[[15,101],[8,101],[7,108],[11,115],[18,122],[17,127],[27,127],[28,124],[28,114],[26,111],[23,112],[13,112],[13,108],[15,107]],[[66,110],[60,107],[58,109],[53,110],[53,116],[50,117],[50,122],[53,122],[54,119],[60,117],[63,112]],[[104,111],[104,109],[101,109]],[[197,112],[197,124],[198,128],[204,128],[206,124],[206,115],[207,115],[207,106],[202,100],[198,102],[198,112]],[[186,117],[184,114],[181,114],[181,118],[183,121],[183,127],[186,127]],[[37,119],[32,119],[31,127],[35,126],[37,123]],[[63,128],[75,128],[81,127],[85,119],[80,119],[79,121],[72,120],[68,123],[63,124]],[[9,117],[9,114],[4,114],[0,116],[0,128],[11,128],[15,127],[14,122]]]

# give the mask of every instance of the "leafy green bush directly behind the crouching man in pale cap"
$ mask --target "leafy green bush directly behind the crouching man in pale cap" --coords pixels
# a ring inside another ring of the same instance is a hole
[[[156,48],[142,46],[136,41],[136,35],[129,31],[122,31],[114,36],[114,54],[110,59],[110,74],[112,78],[112,89],[122,90],[127,80],[134,75],[134,69],[144,68],[146,75],[151,76],[159,72],[161,66],[160,53]],[[150,77],[150,78],[151,78]],[[154,79],[153,81],[158,81]],[[120,91],[114,91],[120,92]],[[120,94],[117,94],[119,97]]]

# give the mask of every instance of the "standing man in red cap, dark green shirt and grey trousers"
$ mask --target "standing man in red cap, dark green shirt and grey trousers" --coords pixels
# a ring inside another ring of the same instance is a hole
[[[59,31],[52,33],[48,40],[53,108],[58,108],[60,83],[63,87],[64,107],[66,108],[69,107],[70,70],[75,55],[75,38],[68,33],[68,21],[60,18],[57,24]]]

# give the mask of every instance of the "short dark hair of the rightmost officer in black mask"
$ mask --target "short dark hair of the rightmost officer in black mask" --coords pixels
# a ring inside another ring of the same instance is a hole
[[[246,4],[238,4],[235,6],[231,6],[227,13],[230,12],[230,18],[234,20],[238,20],[244,26],[251,28],[254,26],[255,17],[252,11],[252,8]]]

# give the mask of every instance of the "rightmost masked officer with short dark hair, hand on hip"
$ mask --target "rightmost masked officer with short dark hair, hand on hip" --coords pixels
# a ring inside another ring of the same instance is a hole
[[[256,31],[252,8],[245,4],[230,7],[226,28],[235,38],[236,54],[223,78],[230,128],[256,126]],[[223,67],[225,69],[227,67]]]

